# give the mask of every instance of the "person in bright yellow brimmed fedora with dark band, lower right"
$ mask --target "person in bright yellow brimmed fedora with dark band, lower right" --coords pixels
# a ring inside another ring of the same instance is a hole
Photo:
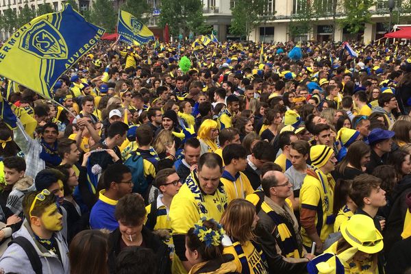
[[[378,269],[377,253],[384,242],[373,219],[354,215],[341,225],[341,234],[340,240],[308,263],[308,273],[383,273]]]

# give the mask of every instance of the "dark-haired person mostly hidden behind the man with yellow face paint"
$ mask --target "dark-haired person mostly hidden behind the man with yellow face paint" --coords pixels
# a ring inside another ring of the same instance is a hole
[[[61,206],[64,201],[64,186],[62,179],[64,179],[64,175],[57,169],[43,169],[37,173],[36,179],[34,179],[34,184],[37,191],[46,189],[49,190],[51,195],[55,196],[58,212],[62,214],[63,227],[60,230],[64,239],[67,239],[67,212]]]

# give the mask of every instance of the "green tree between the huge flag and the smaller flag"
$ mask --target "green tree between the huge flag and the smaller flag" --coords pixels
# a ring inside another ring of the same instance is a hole
[[[95,0],[90,10],[90,21],[95,25],[105,28],[106,32],[114,32],[117,14],[114,12],[112,1]]]

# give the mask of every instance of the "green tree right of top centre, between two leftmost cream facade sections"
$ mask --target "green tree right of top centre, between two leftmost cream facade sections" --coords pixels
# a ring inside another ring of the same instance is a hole
[[[232,25],[229,31],[249,40],[251,30],[264,20],[260,14],[264,13],[266,2],[266,0],[236,0],[236,5],[232,8]]]

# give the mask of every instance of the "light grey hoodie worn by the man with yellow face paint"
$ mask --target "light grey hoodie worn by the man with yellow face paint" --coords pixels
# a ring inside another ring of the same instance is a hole
[[[21,229],[13,234],[13,238],[23,236],[34,246],[40,261],[42,263],[43,274],[69,274],[69,249],[66,242],[62,238],[60,232],[55,232],[55,240],[58,243],[58,249],[60,250],[62,262],[60,262],[58,256],[42,247],[37,241],[34,240],[34,234],[27,220],[23,221]],[[0,258],[0,269],[3,269],[5,273],[14,272],[20,274],[35,274],[30,264],[29,258],[20,245],[12,244],[5,250],[3,256]]]

